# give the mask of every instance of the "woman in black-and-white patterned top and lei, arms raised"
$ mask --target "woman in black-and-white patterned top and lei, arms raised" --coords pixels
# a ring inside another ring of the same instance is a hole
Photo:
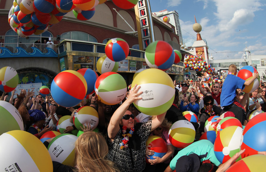
[[[141,172],[145,168],[146,141],[165,117],[165,113],[147,122],[135,125],[134,114],[128,110],[135,100],[142,99],[137,84],[129,91],[124,103],[116,109],[108,125],[108,159],[115,162],[121,171]]]

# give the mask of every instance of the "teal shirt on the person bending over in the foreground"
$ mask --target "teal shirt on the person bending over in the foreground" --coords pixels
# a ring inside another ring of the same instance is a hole
[[[190,155],[192,153],[197,154],[200,157],[200,162],[204,160],[210,160],[216,166],[219,166],[221,163],[218,161],[214,154],[213,144],[209,140],[199,140],[192,143],[186,148],[180,150],[178,154],[171,160],[170,168],[172,170],[176,169],[176,161],[184,155]]]

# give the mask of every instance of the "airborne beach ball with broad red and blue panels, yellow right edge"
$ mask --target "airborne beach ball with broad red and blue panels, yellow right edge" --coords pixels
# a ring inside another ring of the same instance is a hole
[[[73,70],[62,71],[56,75],[51,84],[51,95],[59,105],[74,107],[79,104],[87,93],[85,78]]]

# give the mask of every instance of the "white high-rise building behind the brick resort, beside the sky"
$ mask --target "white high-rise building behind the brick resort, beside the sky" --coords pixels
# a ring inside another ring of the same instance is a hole
[[[169,12],[167,9],[165,9],[159,12],[153,12],[153,15],[160,17],[161,19],[163,19],[163,17],[165,16],[169,17],[170,18],[169,23],[176,27],[176,35],[179,36],[179,42],[183,45],[178,13],[175,10]]]

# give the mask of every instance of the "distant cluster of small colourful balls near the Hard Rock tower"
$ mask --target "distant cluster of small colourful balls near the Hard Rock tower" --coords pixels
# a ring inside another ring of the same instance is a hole
[[[207,64],[207,61],[202,56],[186,55],[184,58],[185,69],[188,68],[193,71],[207,72],[208,74],[215,74],[215,68]]]

